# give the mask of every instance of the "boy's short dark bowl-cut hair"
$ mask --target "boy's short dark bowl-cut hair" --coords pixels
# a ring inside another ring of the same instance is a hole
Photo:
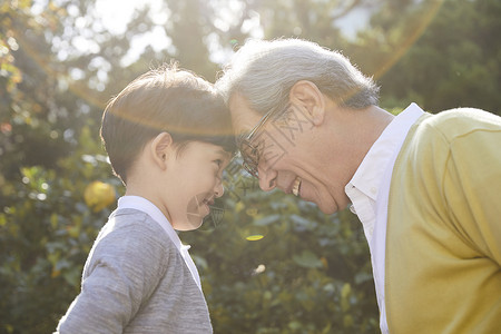
[[[222,146],[235,154],[229,110],[213,85],[164,65],[139,76],[105,109],[100,135],[115,174],[127,171],[145,145],[166,131],[179,149],[189,141]]]

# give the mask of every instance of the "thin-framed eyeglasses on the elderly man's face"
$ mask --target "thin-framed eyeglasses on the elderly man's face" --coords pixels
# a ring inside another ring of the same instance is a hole
[[[286,109],[288,109],[288,105],[286,106],[285,110]],[[257,145],[255,145],[253,144],[253,140],[255,140],[256,135],[259,132],[262,128],[264,128],[264,126],[266,125],[268,119],[272,118],[272,116],[281,114],[277,112],[278,110],[283,111],[284,109],[273,108],[259,119],[257,125],[250,130],[250,132],[247,136],[243,136],[237,139],[237,146],[240,151],[242,158],[244,159],[243,161],[244,169],[256,178],[259,178],[257,166],[259,165],[259,156],[264,143],[263,140],[259,140]]]

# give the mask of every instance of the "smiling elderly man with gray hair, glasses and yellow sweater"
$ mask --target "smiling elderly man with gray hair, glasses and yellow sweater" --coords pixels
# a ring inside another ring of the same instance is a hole
[[[263,190],[326,214],[351,204],[383,333],[499,333],[500,117],[415,104],[395,117],[371,78],[304,40],[247,42],[217,87]]]

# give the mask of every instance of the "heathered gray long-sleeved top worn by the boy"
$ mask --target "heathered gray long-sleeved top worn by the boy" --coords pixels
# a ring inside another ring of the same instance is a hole
[[[165,230],[140,210],[114,212],[58,333],[212,332],[204,295]]]

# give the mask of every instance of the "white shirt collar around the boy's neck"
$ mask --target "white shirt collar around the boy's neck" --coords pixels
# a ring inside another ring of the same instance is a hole
[[[176,245],[177,249],[189,248],[189,246],[185,246],[181,244],[179,236],[174,229],[173,225],[167,220],[161,210],[148,199],[140,196],[122,196],[118,198],[118,209],[131,208],[146,213],[150,216],[155,222],[157,222],[161,228],[167,233],[169,238]]]

